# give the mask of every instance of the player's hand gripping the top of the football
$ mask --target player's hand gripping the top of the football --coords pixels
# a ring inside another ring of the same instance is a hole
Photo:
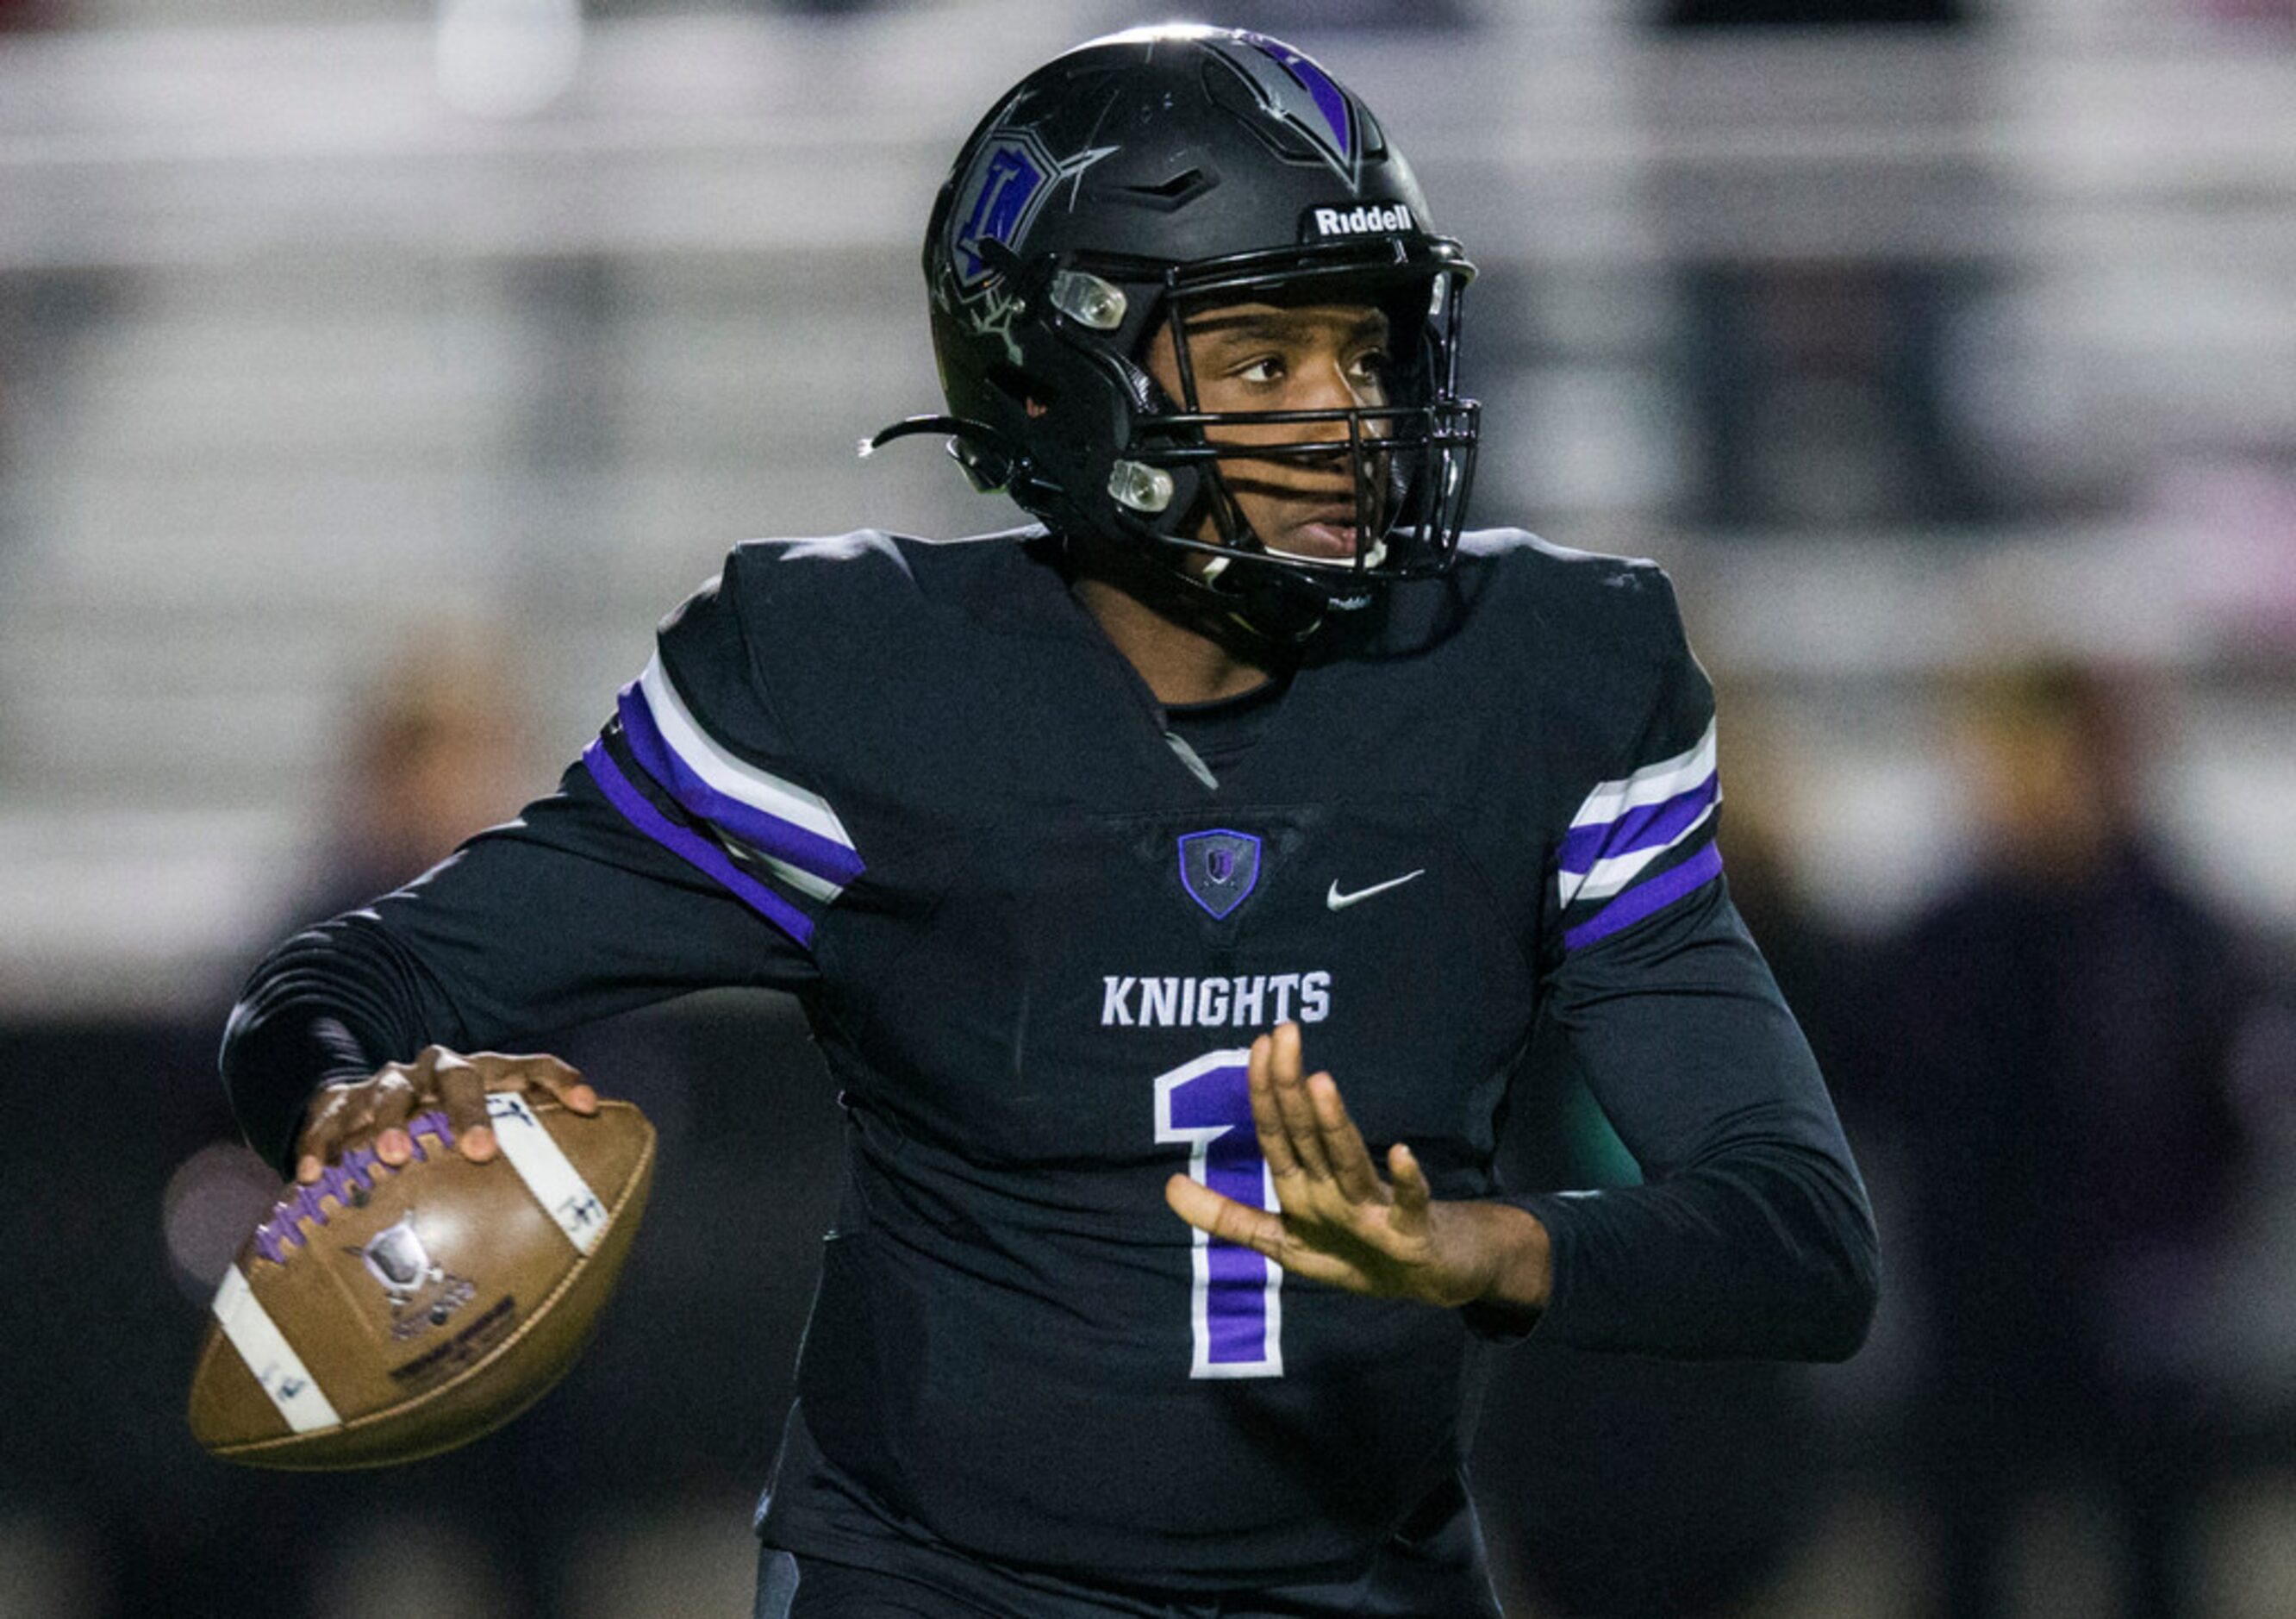
[[[556,1056],[461,1056],[432,1045],[411,1063],[383,1063],[367,1079],[331,1084],[312,1095],[294,1144],[294,1178],[310,1185],[335,1157],[367,1144],[386,1164],[404,1164],[416,1153],[406,1121],[432,1107],[445,1111],[455,1151],[484,1164],[498,1151],[487,1123],[487,1091],[533,1091],[576,1114],[597,1111],[597,1091]]]

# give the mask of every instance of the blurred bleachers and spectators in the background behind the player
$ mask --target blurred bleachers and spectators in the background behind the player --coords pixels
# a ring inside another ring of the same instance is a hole
[[[569,1382],[262,1477],[181,1422],[294,923],[546,790],[746,535],[1003,526],[916,243],[1102,0],[0,0],[0,1614],[737,1614],[836,1107],[794,1010],[558,1049],[664,1130]],[[1839,1369],[1525,1346],[1522,1614],[2296,1612],[2296,5],[1228,0],[1483,276],[1476,521],[1655,556],[1887,1297]],[[1467,700],[1463,696],[1463,700]],[[1632,1178],[1584,1095],[1522,1183]]]

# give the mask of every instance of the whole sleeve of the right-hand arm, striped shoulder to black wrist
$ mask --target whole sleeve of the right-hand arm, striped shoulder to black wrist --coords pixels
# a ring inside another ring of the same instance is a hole
[[[1809,1043],[1729,903],[1713,687],[1665,576],[1639,579],[1607,592],[1619,627],[1584,664],[1614,696],[1557,733],[1580,749],[1559,776],[1582,785],[1554,834],[1538,1033],[1644,1185],[1520,1201],[1554,1252],[1538,1334],[1841,1360],[1874,1316],[1874,1213]]]

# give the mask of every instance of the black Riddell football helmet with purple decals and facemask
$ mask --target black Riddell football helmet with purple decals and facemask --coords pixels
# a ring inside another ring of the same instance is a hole
[[[1472,278],[1378,119],[1304,53],[1226,28],[1109,34],[1015,85],[957,154],[925,230],[951,413],[868,448],[948,432],[976,487],[1008,491],[1079,567],[1194,622],[1300,643],[1371,606],[1375,583],[1456,556],[1481,409],[1456,388]],[[1150,338],[1242,301],[1380,305],[1384,402],[1208,413],[1185,342],[1182,397],[1157,386]],[[1221,432],[1304,425],[1281,446]],[[1224,459],[1350,466],[1355,556],[1272,551]]]

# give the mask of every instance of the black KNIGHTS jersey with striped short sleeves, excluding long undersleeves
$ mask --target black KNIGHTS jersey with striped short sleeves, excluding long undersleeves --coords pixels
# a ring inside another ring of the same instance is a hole
[[[1720,868],[1665,576],[1513,533],[1219,776],[1026,535],[751,544],[583,765],[755,914],[850,1109],[822,1454],[955,1546],[1157,1585],[1348,1566],[1458,1465],[1458,1314],[1164,1206],[1272,1206],[1251,1036],[1297,1020],[1373,1153],[1486,1196],[1541,985]],[[827,1525],[785,1490],[769,1532]]]

